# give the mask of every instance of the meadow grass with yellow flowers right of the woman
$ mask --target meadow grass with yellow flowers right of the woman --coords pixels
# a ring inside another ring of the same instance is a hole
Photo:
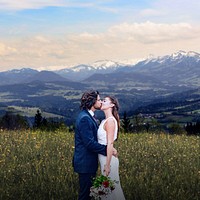
[[[199,198],[198,137],[140,134],[122,136],[119,143],[127,199]]]

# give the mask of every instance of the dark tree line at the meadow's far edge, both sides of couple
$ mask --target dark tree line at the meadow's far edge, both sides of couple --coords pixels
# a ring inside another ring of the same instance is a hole
[[[58,118],[45,118],[42,116],[42,112],[38,109],[34,122],[30,122],[27,117],[19,114],[13,114],[12,112],[6,112],[3,117],[0,118],[0,129],[6,130],[18,130],[18,129],[41,129],[46,131],[54,131],[58,128],[67,127],[62,119]],[[74,125],[68,127],[70,131],[74,131]],[[140,114],[136,114],[130,117],[124,112],[121,120],[121,131],[124,133],[142,133],[142,132],[163,132],[167,131],[171,134],[183,134],[187,135],[199,135],[200,134],[200,121],[196,123],[188,122],[186,126],[181,127],[178,123],[170,124],[167,127],[161,125],[156,119],[145,121],[144,117]]]

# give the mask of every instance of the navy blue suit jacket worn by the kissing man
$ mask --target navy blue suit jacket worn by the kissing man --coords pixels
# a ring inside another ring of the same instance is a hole
[[[106,155],[106,146],[97,141],[98,125],[87,110],[82,110],[76,120],[74,171],[96,173],[98,154]]]

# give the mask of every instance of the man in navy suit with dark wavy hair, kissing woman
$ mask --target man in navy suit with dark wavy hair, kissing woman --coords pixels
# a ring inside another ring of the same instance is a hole
[[[94,111],[101,108],[99,92],[85,92],[81,97],[80,108],[82,111],[75,127],[73,167],[79,175],[79,200],[89,200],[92,178],[96,176],[98,169],[98,154],[106,155],[107,147],[97,142],[98,125],[94,119]],[[113,154],[116,155],[117,151]]]

